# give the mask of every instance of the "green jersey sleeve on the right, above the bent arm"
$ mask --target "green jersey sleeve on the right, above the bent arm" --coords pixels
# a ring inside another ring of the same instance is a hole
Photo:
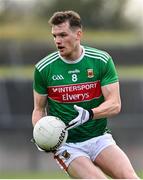
[[[111,83],[118,82],[118,74],[114,65],[114,62],[111,57],[108,61],[102,62],[101,65],[101,86],[105,86]]]

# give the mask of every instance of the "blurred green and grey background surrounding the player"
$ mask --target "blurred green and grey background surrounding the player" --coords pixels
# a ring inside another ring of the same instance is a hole
[[[143,1],[0,0],[0,178],[68,178],[51,154],[30,142],[34,65],[56,50],[48,20],[60,10],[77,11],[84,26],[82,44],[114,59],[122,111],[109,127],[142,176]]]

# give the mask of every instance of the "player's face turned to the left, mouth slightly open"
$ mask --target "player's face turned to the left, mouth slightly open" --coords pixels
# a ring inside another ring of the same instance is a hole
[[[76,59],[80,45],[81,29],[71,29],[69,22],[52,27],[54,41],[60,55],[67,60]]]

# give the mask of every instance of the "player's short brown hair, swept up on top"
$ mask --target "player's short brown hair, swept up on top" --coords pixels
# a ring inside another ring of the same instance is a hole
[[[69,22],[71,28],[82,28],[80,15],[75,11],[58,11],[50,18],[51,25],[59,25],[64,22]]]

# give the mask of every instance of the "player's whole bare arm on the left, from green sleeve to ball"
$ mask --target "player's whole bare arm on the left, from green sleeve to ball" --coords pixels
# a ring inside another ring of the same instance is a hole
[[[34,126],[39,119],[47,115],[47,111],[46,111],[47,96],[40,95],[36,91],[33,91],[33,96],[34,96],[34,110],[32,113],[32,124]]]

